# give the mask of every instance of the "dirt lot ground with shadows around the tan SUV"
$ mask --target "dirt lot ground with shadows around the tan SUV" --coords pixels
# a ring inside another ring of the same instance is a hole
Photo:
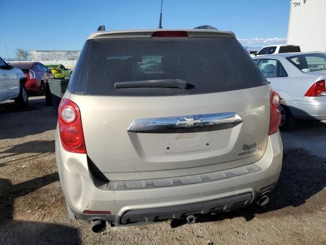
[[[282,133],[283,169],[266,207],[96,234],[67,216],[54,153],[57,115],[44,97],[30,99],[24,111],[0,104],[0,244],[326,244],[326,121]]]

